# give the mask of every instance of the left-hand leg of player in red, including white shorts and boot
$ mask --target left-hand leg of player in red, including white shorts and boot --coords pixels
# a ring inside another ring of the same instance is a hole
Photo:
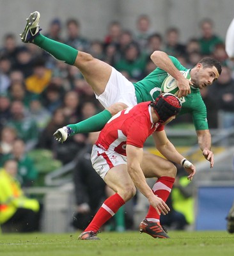
[[[127,172],[126,157],[116,152],[104,151],[94,145],[91,163],[98,175],[115,193],[105,200],[90,225],[79,236],[79,239],[82,240],[97,239],[99,228],[136,194],[134,183]]]

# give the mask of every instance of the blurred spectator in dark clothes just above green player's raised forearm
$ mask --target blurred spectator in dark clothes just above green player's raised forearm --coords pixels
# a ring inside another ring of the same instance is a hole
[[[171,27],[166,31],[164,51],[168,55],[183,56],[185,55],[185,45],[180,43],[180,31],[178,28]]]

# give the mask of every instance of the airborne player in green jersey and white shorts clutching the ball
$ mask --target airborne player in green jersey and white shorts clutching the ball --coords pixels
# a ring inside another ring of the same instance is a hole
[[[199,89],[211,85],[221,74],[221,65],[213,58],[204,58],[191,69],[191,81],[185,79],[179,70],[187,70],[173,56],[165,52],[155,51],[151,58],[158,67],[137,83],[131,83],[120,72],[104,61],[93,58],[90,54],[56,42],[40,34],[39,12],[33,12],[27,19],[22,32],[22,42],[31,42],[49,52],[56,59],[65,61],[79,68],[86,81],[95,92],[97,99],[105,110],[78,124],[67,125],[55,132],[54,136],[63,142],[69,136],[79,132],[100,131],[111,116],[118,111],[134,106],[139,102],[154,100],[160,94],[162,82],[170,74],[180,89],[178,97],[183,98],[182,111],[190,113],[198,136],[199,147],[203,156],[214,165],[214,154],[211,151],[211,136],[208,130],[207,109],[199,93]],[[190,87],[192,85],[193,87]],[[148,156],[149,157],[149,156]],[[153,156],[152,156],[153,157]],[[153,161],[153,159],[152,159]]]

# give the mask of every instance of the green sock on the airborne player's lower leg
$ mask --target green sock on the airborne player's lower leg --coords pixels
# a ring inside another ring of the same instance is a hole
[[[111,119],[111,113],[105,109],[95,116],[79,122],[77,124],[68,124],[67,126],[72,128],[76,133],[88,133],[101,131],[105,124]],[[72,134],[74,135],[74,134]]]

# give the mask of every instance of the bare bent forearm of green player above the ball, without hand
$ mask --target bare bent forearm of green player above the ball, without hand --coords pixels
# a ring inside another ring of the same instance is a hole
[[[180,77],[183,77],[166,52],[154,51],[151,55],[151,60],[157,67],[168,72],[168,74],[173,76],[176,80],[180,79]]]

